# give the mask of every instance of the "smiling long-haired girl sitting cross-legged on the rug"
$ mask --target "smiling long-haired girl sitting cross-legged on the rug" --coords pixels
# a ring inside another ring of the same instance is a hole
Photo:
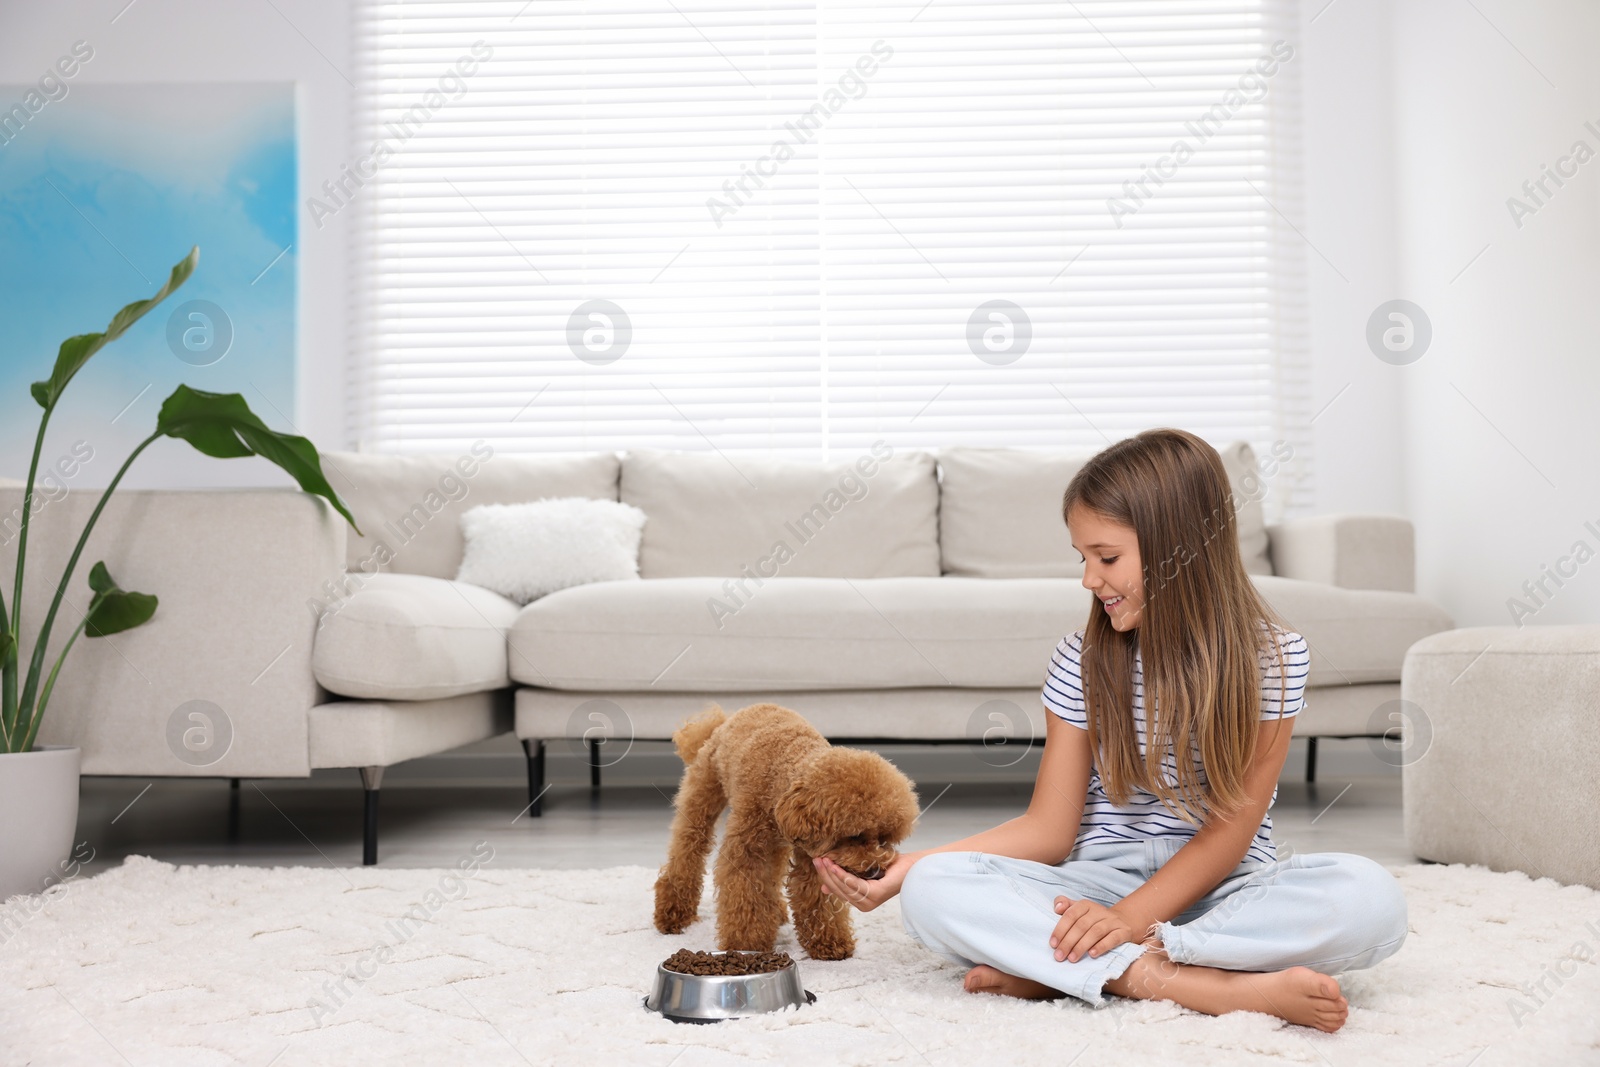
[[[1173,1000],[1338,1030],[1331,977],[1394,955],[1405,896],[1346,853],[1277,859],[1272,817],[1306,640],[1245,574],[1227,474],[1182,430],[1094,456],[1062,499],[1096,605],[1056,648],[1027,813],[824,891],[971,969],[968,992]],[[1187,758],[1176,758],[1176,752]]]

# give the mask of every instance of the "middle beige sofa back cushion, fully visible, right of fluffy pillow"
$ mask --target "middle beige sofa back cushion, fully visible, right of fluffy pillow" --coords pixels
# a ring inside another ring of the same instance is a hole
[[[622,458],[621,499],[646,517],[640,577],[939,573],[939,483],[928,453],[896,456],[878,445],[821,464],[635,451]]]

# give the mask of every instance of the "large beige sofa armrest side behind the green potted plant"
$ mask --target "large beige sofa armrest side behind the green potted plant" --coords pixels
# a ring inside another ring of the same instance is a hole
[[[72,490],[34,515],[22,595],[29,651],[99,498]],[[0,488],[8,609],[21,504],[21,490]],[[312,638],[318,601],[344,574],[346,530],[325,501],[299,490],[114,493],[67,582],[45,669],[83,619],[98,560],[123,589],[154,593],[160,606],[133,630],[78,638],[40,744],[80,745],[85,774],[310,774]]]

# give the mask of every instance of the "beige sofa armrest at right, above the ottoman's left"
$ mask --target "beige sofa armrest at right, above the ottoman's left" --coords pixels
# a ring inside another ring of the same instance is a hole
[[[1416,592],[1416,537],[1394,515],[1312,515],[1267,525],[1272,573],[1339,589]]]

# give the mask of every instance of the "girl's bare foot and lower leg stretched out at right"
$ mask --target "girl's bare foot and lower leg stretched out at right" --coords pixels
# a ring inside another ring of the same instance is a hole
[[[1222,971],[1174,963],[1160,950],[1138,957],[1122,977],[1106,982],[1106,992],[1139,1000],[1171,1000],[1208,1016],[1259,1011],[1326,1033],[1342,1027],[1350,1014],[1350,1003],[1339,992],[1339,981],[1320,971],[1306,966],[1285,971]]]

